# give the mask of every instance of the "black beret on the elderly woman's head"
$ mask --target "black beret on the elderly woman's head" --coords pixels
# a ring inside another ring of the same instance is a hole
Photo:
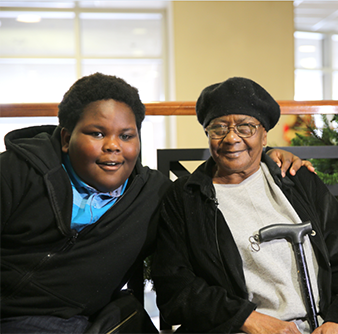
[[[214,118],[240,114],[255,117],[269,131],[279,120],[280,108],[259,84],[234,77],[204,88],[196,103],[196,114],[204,128]]]

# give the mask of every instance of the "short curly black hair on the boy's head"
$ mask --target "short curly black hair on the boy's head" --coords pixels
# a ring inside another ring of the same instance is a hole
[[[131,108],[140,133],[145,106],[140,100],[138,90],[121,78],[102,73],[85,76],[69,88],[59,104],[59,125],[72,132],[89,103],[108,99],[124,102]]]

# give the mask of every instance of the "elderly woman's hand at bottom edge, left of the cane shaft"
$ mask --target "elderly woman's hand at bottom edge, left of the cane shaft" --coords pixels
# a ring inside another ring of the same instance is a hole
[[[301,334],[295,323],[282,321],[256,311],[246,319],[241,330],[248,334]],[[316,334],[319,333],[324,332]],[[331,332],[327,333],[331,334]]]

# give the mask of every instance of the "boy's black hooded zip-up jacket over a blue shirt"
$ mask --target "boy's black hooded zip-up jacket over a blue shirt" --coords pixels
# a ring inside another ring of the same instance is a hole
[[[137,162],[124,195],[95,224],[70,228],[72,187],[60,128],[9,133],[0,154],[0,317],[91,316],[154,247],[170,181]]]

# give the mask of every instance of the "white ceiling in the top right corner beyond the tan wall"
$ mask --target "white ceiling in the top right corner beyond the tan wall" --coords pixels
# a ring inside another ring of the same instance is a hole
[[[338,1],[295,0],[295,29],[338,33]]]

